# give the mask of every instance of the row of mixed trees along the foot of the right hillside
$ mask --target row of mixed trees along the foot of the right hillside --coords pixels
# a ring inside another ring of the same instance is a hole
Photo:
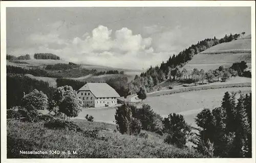
[[[195,83],[195,85],[198,84],[199,80],[202,81],[201,84],[205,84],[204,82],[206,80],[208,83],[219,82],[220,80],[225,82],[233,76],[251,77],[251,72],[246,71],[247,67],[244,61],[233,63],[230,68],[220,66],[217,69],[210,69],[206,72],[203,69],[198,70],[194,68],[193,70],[187,70],[176,66],[174,69],[169,68],[166,74],[164,74],[162,70],[159,70],[158,67],[151,67],[149,70],[153,75],[136,75],[134,80],[128,84],[128,87],[129,91],[135,94],[141,87],[144,88],[146,92],[156,91],[158,84],[166,79],[169,79],[170,82],[177,80],[186,84]]]

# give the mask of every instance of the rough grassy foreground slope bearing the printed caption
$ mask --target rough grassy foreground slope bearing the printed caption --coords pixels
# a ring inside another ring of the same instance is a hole
[[[163,143],[163,138],[148,132],[148,138],[121,135],[114,132],[115,125],[76,121],[84,129],[99,128],[100,137],[85,137],[79,132],[52,130],[40,123],[9,121],[7,123],[7,158],[151,158],[151,157],[203,157],[191,149],[179,149]],[[19,155],[24,151],[77,151],[77,155],[47,154]]]

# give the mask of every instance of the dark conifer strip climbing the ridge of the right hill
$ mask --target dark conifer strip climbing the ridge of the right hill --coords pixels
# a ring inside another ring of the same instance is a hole
[[[159,78],[159,75],[161,76],[163,75],[163,73],[167,75],[172,69],[175,69],[177,66],[183,67],[184,64],[190,61],[194,57],[194,55],[197,55],[197,53],[204,51],[217,44],[236,40],[240,36],[240,34],[230,34],[229,36],[225,35],[221,39],[217,39],[216,37],[214,37],[199,41],[197,44],[191,45],[187,49],[179,52],[178,55],[173,55],[166,61],[166,63],[162,62],[160,67],[156,66],[153,68],[151,66],[149,69],[147,69],[145,73],[141,73],[140,76],[151,75],[152,78]]]

